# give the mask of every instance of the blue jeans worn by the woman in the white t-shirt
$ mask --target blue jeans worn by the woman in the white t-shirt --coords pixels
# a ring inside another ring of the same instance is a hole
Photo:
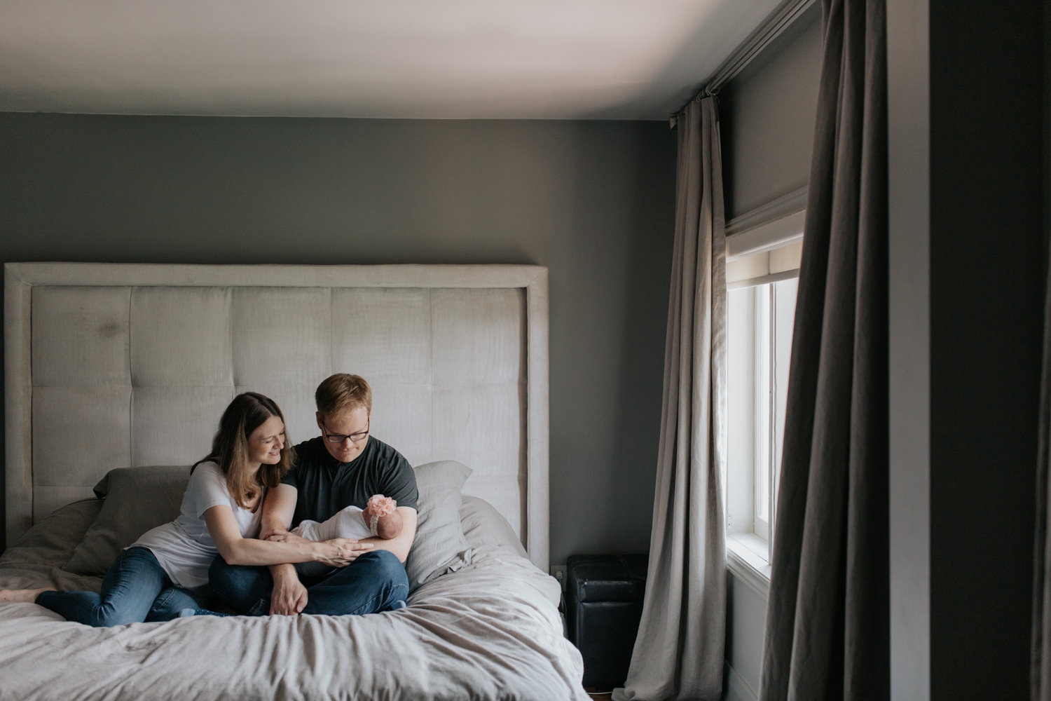
[[[183,609],[201,603],[176,586],[148,548],[128,548],[102,579],[102,595],[95,592],[41,592],[37,603],[63,618],[95,626],[167,621]]]

